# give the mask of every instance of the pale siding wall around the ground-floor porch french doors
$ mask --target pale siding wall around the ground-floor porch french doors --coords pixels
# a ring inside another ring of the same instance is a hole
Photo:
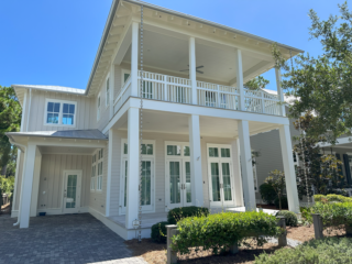
[[[113,131],[113,162],[112,162],[112,175],[111,175],[111,196],[110,196],[110,216],[119,215],[119,207],[122,206],[122,200],[120,196],[120,177],[121,177],[121,154],[122,145],[121,140],[128,139],[128,132],[125,130]],[[143,140],[155,141],[155,212],[165,212],[166,201],[165,201],[165,141],[175,142],[189,142],[189,136],[186,134],[169,134],[169,133],[151,133],[143,132]],[[234,175],[234,188],[235,188],[235,200],[238,206],[242,206],[242,180],[239,175],[239,160],[238,160],[238,146],[233,139],[219,139],[204,136],[200,141],[201,143],[201,163],[202,163],[202,185],[204,185],[204,201],[205,206],[209,207],[209,172],[207,163],[207,144],[228,144],[232,146],[232,165]],[[154,187],[153,187],[154,189]]]

